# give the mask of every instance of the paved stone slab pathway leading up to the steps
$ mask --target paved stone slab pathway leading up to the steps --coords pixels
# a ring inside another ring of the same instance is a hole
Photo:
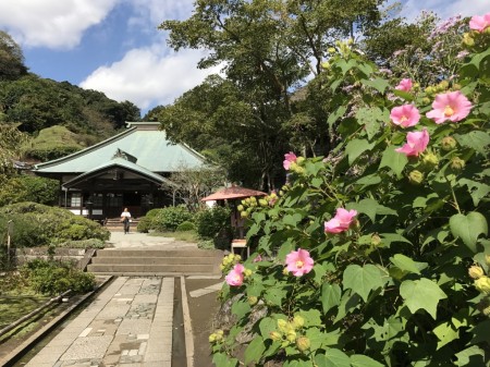
[[[117,278],[26,367],[171,367],[173,278]]]

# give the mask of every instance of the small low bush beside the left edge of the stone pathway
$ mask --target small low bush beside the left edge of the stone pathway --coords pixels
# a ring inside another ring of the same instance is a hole
[[[68,290],[86,293],[96,284],[94,274],[76,269],[71,262],[36,259],[27,262],[21,273],[34,291],[48,295],[58,295]]]

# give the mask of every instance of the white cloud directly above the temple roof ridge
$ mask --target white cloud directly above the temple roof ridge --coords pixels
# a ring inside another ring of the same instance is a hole
[[[140,109],[169,105],[219,68],[198,70],[201,51],[162,54],[162,46],[133,49],[124,58],[91,73],[81,87],[103,91],[118,101],[130,100]]]

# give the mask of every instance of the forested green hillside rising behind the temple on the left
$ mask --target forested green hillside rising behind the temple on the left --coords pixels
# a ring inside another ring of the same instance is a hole
[[[29,73],[20,46],[0,32],[0,125],[27,134],[24,158],[58,158],[113,135],[125,121],[138,121],[139,114],[130,101],[117,102],[100,91]],[[64,136],[68,131],[70,142],[52,134],[53,127]],[[46,129],[51,140],[34,139]]]

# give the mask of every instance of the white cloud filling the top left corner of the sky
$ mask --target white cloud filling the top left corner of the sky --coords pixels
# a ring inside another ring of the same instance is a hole
[[[117,0],[0,1],[0,28],[17,42],[52,49],[77,46],[83,33],[100,23]]]

